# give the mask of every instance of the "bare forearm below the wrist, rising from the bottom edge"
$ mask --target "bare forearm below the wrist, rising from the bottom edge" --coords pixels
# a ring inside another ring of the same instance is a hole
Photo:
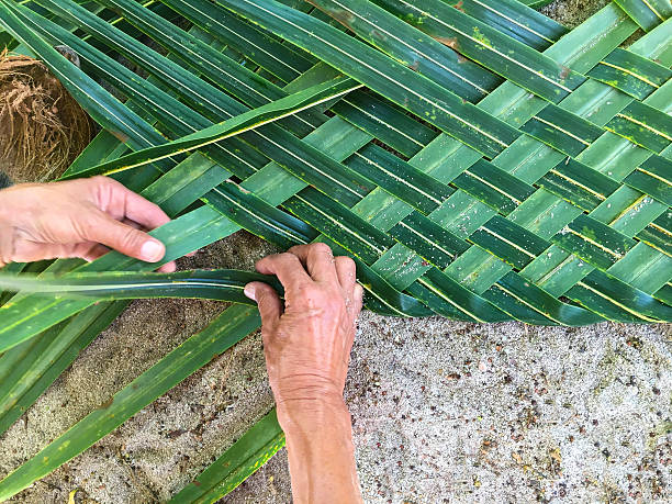
[[[344,403],[278,407],[295,503],[361,502],[350,414]]]

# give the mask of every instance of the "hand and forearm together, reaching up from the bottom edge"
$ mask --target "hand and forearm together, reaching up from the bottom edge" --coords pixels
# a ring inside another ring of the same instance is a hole
[[[251,282],[278,422],[287,437],[293,501],[360,503],[350,414],[343,400],[363,290],[355,262],[325,244],[300,245],[257,262],[284,287]]]

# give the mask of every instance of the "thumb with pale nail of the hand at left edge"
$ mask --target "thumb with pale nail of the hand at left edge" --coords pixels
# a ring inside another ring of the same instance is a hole
[[[158,262],[166,255],[166,247],[158,239],[112,219],[104,212],[90,219],[83,234],[83,239],[101,243],[146,262]]]

